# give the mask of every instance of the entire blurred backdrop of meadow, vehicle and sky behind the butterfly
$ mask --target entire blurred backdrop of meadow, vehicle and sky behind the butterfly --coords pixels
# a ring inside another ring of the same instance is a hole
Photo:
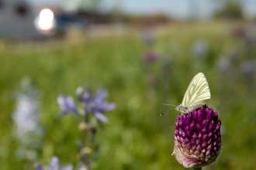
[[[78,165],[79,121],[57,118],[57,96],[78,101],[85,84],[116,103],[95,169],[184,169],[171,156],[178,112],[161,117],[161,103],[181,104],[199,72],[223,135],[204,169],[254,169],[255,47],[255,0],[0,0],[1,169]]]

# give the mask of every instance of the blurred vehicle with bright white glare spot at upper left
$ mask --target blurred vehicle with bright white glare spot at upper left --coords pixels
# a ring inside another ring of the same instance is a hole
[[[86,19],[54,5],[31,6],[24,0],[0,0],[0,37],[64,36],[69,26],[85,28]]]

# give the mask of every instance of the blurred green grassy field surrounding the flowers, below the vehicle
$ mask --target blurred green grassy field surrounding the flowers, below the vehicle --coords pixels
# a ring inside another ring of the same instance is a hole
[[[72,95],[87,84],[93,93],[108,90],[108,101],[116,110],[106,112],[109,123],[99,130],[101,144],[95,169],[184,169],[175,156],[175,120],[178,112],[161,103],[182,102],[192,77],[206,75],[212,98],[208,101],[220,114],[223,145],[216,163],[207,169],[254,169],[256,167],[255,73],[240,71],[241,64],[256,56],[255,44],[248,47],[244,39],[233,36],[239,23],[175,23],[153,29],[155,42],[141,42],[140,31],[128,29],[122,36],[74,36],[33,44],[3,43],[0,48],[0,169],[33,169],[33,162],[16,158],[19,141],[13,135],[12,112],[16,101],[12,94],[23,76],[29,76],[43,95],[40,100],[40,123],[43,146],[38,148],[37,162],[47,165],[53,155],[61,165],[78,165],[75,142],[81,137],[79,121],[73,115],[61,119],[57,105],[59,93]],[[243,24],[242,26],[246,26]],[[204,58],[192,57],[196,39],[208,43]],[[163,73],[159,63],[145,63],[144,53],[154,50],[171,59]],[[230,50],[238,58],[230,73],[220,72],[217,63]],[[150,75],[157,83],[148,83]]]

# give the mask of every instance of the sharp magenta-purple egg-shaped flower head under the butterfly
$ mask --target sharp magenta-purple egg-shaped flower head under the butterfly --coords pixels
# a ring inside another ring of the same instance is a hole
[[[216,161],[221,148],[221,121],[212,108],[199,107],[178,114],[175,123],[175,157],[185,168],[200,168]]]

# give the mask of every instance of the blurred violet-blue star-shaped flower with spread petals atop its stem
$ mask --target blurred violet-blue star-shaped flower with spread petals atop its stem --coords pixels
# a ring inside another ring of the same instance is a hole
[[[108,118],[104,116],[103,112],[108,110],[114,110],[116,104],[106,103],[105,99],[107,96],[106,90],[99,90],[95,97],[92,96],[92,91],[86,87],[85,93],[82,87],[77,89],[78,99],[85,104],[85,113],[94,113],[97,120],[107,122]]]

